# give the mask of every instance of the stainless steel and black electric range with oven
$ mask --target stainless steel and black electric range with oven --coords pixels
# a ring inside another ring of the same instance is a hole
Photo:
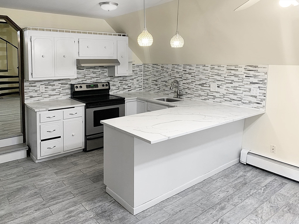
[[[109,90],[109,82],[71,84],[71,98],[86,104],[85,151],[104,147],[101,120],[125,116],[125,98]]]

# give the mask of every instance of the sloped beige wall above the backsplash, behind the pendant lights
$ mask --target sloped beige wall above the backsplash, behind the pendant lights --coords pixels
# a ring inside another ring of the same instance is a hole
[[[259,1],[234,12],[245,0],[183,0],[179,11],[182,48],[171,48],[176,31],[177,1],[146,10],[154,42],[140,47],[143,11],[106,19],[116,32],[129,35],[129,47],[144,63],[299,65],[298,7]]]

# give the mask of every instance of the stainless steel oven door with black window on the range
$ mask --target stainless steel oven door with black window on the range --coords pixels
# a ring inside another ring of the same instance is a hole
[[[86,109],[86,135],[98,134],[104,131],[102,120],[125,116],[125,105],[112,105]]]

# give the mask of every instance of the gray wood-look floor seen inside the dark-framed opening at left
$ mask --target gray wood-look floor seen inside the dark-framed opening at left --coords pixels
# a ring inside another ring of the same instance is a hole
[[[0,97],[0,139],[22,135],[20,116],[19,95]]]

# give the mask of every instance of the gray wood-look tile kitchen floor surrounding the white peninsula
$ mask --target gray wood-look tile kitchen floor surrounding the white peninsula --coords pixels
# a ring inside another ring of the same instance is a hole
[[[241,163],[135,216],[105,192],[103,150],[3,163],[0,180],[1,224],[299,222],[299,184]]]

